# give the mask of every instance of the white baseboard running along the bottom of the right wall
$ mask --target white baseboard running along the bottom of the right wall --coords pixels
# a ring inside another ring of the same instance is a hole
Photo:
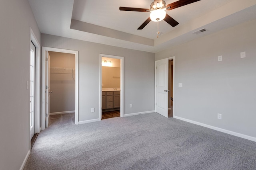
[[[241,133],[236,133],[236,132],[229,131],[229,130],[226,130],[226,129],[222,129],[222,128],[219,128],[219,127],[206,125],[204,123],[200,123],[200,122],[197,122],[197,121],[192,121],[192,120],[185,119],[185,118],[178,117],[178,116],[173,116],[173,118],[180,119],[180,120],[183,120],[183,121],[186,121],[186,122],[189,122],[189,123],[193,123],[193,124],[200,125],[200,126],[203,126],[203,127],[207,127],[207,128],[210,128],[210,129],[214,129],[216,131],[220,131],[220,132],[223,132],[223,133],[228,133],[229,135],[234,135],[236,137],[241,137],[241,138],[248,139],[250,141],[256,142],[256,137],[251,137],[251,136],[248,136],[248,135],[244,135],[244,134],[241,134]]]

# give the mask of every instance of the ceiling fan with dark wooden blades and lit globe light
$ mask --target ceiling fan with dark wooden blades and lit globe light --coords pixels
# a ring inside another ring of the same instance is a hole
[[[173,2],[171,4],[166,5],[166,3],[163,0],[154,0],[152,4],[150,5],[150,9],[146,8],[129,8],[129,7],[119,7],[120,11],[137,11],[137,12],[151,12],[150,17],[138,27],[138,29],[143,29],[151,20],[152,21],[166,21],[172,27],[175,27],[179,23],[174,20],[172,17],[170,17],[168,14],[166,14],[165,10],[173,10],[175,8],[179,8],[184,5],[191,4],[193,2],[197,2],[200,0],[178,0],[176,2]]]

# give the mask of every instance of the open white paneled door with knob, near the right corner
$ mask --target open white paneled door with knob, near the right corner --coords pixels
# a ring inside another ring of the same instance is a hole
[[[156,61],[156,112],[168,117],[168,59]]]

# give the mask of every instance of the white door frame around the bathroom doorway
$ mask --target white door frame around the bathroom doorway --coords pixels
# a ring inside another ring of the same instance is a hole
[[[100,106],[99,120],[102,119],[102,57],[120,59],[120,117],[124,117],[124,57],[100,54]]]

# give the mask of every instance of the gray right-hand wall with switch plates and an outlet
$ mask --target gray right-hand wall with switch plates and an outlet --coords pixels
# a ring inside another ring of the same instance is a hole
[[[256,137],[255,30],[256,20],[156,53],[175,56],[175,116]]]

